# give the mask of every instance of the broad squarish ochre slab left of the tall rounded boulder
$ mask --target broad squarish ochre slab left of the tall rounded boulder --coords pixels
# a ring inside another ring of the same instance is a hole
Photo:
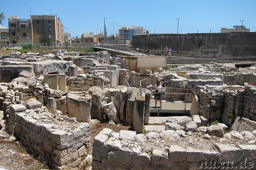
[[[78,122],[91,123],[91,97],[67,96],[68,116],[76,117]]]

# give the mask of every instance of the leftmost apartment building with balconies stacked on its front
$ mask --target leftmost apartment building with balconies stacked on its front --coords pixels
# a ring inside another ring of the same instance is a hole
[[[11,44],[33,42],[31,19],[20,19],[18,16],[10,16],[8,18],[8,25]]]

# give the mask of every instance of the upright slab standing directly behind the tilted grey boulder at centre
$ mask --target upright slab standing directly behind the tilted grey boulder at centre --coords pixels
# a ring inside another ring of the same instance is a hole
[[[108,89],[108,103],[113,102],[116,107],[116,112],[118,118],[120,118],[120,90],[118,89]]]

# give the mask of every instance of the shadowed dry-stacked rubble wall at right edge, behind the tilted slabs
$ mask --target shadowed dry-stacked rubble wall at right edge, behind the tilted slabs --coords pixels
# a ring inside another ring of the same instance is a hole
[[[214,90],[214,89],[213,89]],[[236,116],[244,117],[256,121],[256,88],[245,86],[244,90],[223,90],[220,93],[213,93],[211,100],[216,101],[215,106],[211,106],[211,119],[221,120],[227,126],[231,126]],[[210,98],[201,89],[199,94],[199,112],[206,119],[209,118]]]

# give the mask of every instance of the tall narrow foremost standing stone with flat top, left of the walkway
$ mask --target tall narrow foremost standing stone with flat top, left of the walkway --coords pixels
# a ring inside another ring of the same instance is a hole
[[[133,129],[137,133],[143,133],[144,130],[144,107],[145,97],[136,96],[133,107]]]

